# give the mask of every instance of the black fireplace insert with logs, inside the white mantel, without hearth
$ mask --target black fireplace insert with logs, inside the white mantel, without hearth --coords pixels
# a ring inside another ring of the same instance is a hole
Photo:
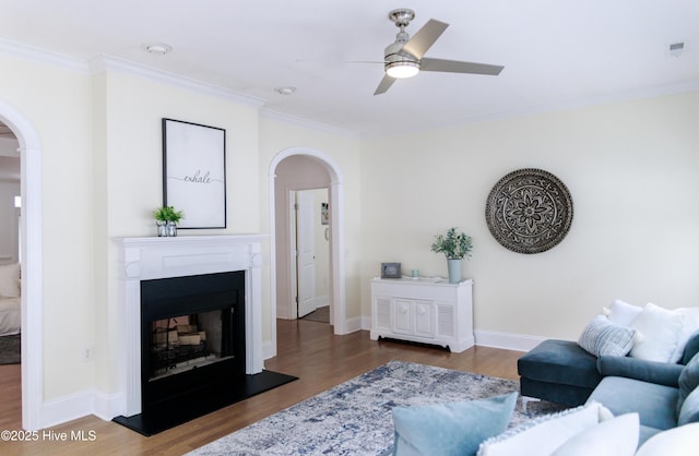
[[[245,340],[245,272],[142,280],[142,410],[234,384]]]

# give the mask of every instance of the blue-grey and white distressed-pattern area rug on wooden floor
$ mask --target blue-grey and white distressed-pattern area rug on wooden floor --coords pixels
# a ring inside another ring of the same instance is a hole
[[[393,444],[393,407],[511,392],[519,392],[518,382],[391,361],[188,455],[379,455]],[[520,398],[510,427],[564,408],[530,403],[523,412]]]

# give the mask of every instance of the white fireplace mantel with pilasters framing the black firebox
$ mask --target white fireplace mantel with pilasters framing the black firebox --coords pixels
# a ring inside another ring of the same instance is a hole
[[[263,369],[264,235],[117,238],[119,243],[121,413],[141,412],[141,280],[245,271],[246,373]]]

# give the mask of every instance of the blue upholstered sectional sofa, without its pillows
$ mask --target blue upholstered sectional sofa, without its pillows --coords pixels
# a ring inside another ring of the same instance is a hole
[[[597,401],[614,416],[639,415],[641,445],[652,435],[699,422],[699,333],[678,363],[594,357],[576,343],[545,340],[518,361],[522,396],[577,406]]]

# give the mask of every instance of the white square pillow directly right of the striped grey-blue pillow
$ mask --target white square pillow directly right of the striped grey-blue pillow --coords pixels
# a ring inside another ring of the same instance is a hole
[[[637,337],[630,356],[648,361],[670,362],[683,328],[685,316],[651,302],[631,322]]]

